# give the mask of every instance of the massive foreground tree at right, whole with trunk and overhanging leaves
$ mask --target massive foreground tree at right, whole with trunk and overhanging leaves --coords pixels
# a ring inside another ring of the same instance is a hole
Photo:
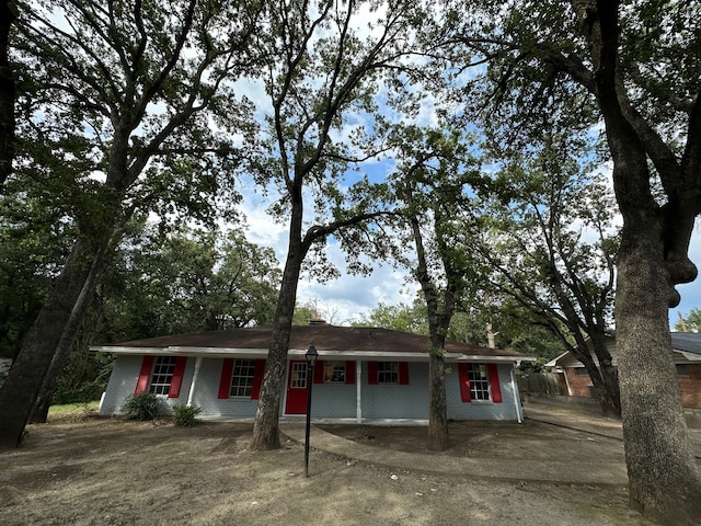
[[[486,81],[492,138],[519,148],[553,127],[604,125],[623,219],[616,331],[631,504],[670,524],[698,524],[701,474],[669,352],[668,309],[679,302],[675,286],[698,274],[688,253],[701,213],[701,5],[470,7],[480,14],[463,16],[463,4],[448,10],[448,22],[462,27],[446,28],[447,49],[467,52],[467,60],[456,57],[462,66],[487,65],[461,88]]]

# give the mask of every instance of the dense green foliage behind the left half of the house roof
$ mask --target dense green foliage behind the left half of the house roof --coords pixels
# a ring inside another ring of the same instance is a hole
[[[231,231],[131,237],[103,286],[113,338],[271,323],[280,272],[271,249]]]

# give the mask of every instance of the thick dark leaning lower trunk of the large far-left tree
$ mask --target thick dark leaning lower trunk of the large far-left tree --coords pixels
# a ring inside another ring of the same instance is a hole
[[[0,388],[0,448],[16,447],[22,442],[34,402],[56,352],[64,345],[70,350],[76,339],[89,299],[104,268],[104,250],[79,239],[56,278],[50,296]]]

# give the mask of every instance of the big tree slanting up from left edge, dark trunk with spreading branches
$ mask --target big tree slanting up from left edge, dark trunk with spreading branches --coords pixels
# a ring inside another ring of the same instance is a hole
[[[207,157],[210,145],[204,144],[214,137],[209,135],[207,118],[197,116],[210,110],[212,101],[221,94],[225,78],[231,80],[232,75],[250,67],[250,57],[244,50],[257,28],[255,5],[241,8],[235,2],[226,7],[209,5],[197,0],[162,9],[141,2],[127,4],[126,10],[117,10],[124,24],[114,23],[113,5],[69,2],[62,7],[72,16],[71,30],[55,26],[53,13],[38,4],[33,5],[36,11],[25,13],[22,24],[18,25],[23,57],[32,64],[36,83],[46,92],[45,96],[54,96],[56,103],[62,105],[54,112],[56,121],[48,125],[72,136],[81,130],[76,123],[83,123],[96,137],[89,134],[78,137],[76,142],[102,148],[101,156],[92,151],[85,153],[85,150],[70,151],[79,157],[84,153],[81,159],[84,164],[76,179],[82,181],[88,174],[99,172],[104,175],[104,183],[66,183],[70,187],[59,188],[61,195],[74,199],[67,208],[76,214],[79,233],[51,295],[0,389],[0,447],[20,443],[42,385],[51,381],[47,371],[55,357],[55,370],[62,367],[65,354],[74,341],[106,260],[115,248],[115,232],[120,231],[137,207],[148,209],[159,199],[173,197],[163,187],[168,183],[161,184],[161,181],[157,187],[149,186],[154,183],[153,179],[162,175],[154,168],[158,163],[151,161],[162,156],[189,156],[193,165],[207,173],[209,163],[197,163],[200,157],[215,163]],[[218,38],[210,28],[231,19],[234,13],[229,8],[241,15],[241,25]],[[149,32],[150,24],[158,26],[169,16],[172,24],[168,32],[157,35]],[[183,61],[185,48],[187,60]],[[61,71],[62,78],[56,79],[55,71]],[[233,100],[229,102],[235,104]],[[151,112],[156,103],[165,111]],[[221,124],[238,129],[241,124],[234,117],[238,113],[237,110],[231,115],[219,115]],[[67,114],[74,119],[61,121]],[[42,130],[37,133],[41,136]],[[85,139],[84,142],[81,139]],[[172,149],[173,142],[183,139],[192,141],[187,152]],[[238,150],[232,145],[221,142],[217,151],[232,156],[235,163]],[[88,165],[91,160],[93,164]],[[142,176],[147,168],[154,171]],[[230,165],[225,164],[222,170],[228,168]],[[211,172],[209,175],[217,178]],[[187,191],[193,195],[210,192],[209,182],[207,190],[195,187],[199,182],[195,176],[193,182],[185,183]],[[202,202],[196,206],[200,210],[207,208]]]

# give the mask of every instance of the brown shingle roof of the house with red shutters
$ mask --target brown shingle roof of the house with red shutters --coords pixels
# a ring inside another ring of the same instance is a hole
[[[227,350],[267,350],[271,343],[272,327],[257,325],[245,329],[227,331],[211,331],[196,334],[173,334],[168,336],[135,340],[131,342],[105,345],[100,351],[110,347],[199,347]],[[370,327],[336,327],[330,324],[294,325],[290,336],[290,350],[307,350],[313,343],[318,351],[334,352],[398,352],[426,354],[428,352],[428,336],[410,334],[406,332]],[[510,357],[532,359],[530,356],[504,351],[501,348],[480,347],[467,343],[447,341],[445,350],[448,353],[466,354],[485,357]]]

